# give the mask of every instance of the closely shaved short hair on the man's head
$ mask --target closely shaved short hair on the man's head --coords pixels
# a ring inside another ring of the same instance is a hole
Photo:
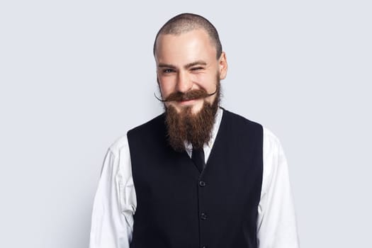
[[[208,33],[210,40],[215,45],[216,57],[219,59],[222,53],[222,45],[217,29],[206,18],[195,13],[181,13],[174,16],[159,29],[154,41],[154,56],[159,35],[181,35],[196,29],[203,29]]]

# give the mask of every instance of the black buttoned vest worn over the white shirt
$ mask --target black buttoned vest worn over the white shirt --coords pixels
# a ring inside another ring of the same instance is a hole
[[[223,111],[205,169],[167,143],[164,114],[128,132],[133,248],[256,248],[262,126]]]

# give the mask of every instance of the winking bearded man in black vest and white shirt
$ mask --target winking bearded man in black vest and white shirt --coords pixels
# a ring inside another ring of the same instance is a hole
[[[165,111],[109,148],[90,247],[298,247],[278,139],[220,108],[227,60],[214,26],[171,18],[154,57]]]

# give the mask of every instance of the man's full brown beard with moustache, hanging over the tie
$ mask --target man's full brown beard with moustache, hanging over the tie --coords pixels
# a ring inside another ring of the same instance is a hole
[[[169,145],[176,152],[183,152],[185,150],[185,142],[191,143],[193,148],[203,148],[205,143],[208,143],[212,137],[212,129],[215,123],[215,114],[220,105],[220,79],[216,81],[216,97],[213,103],[203,101],[203,106],[198,113],[192,113],[191,106],[181,108],[177,112],[174,106],[169,105],[165,107],[166,125],[167,125],[167,138]],[[180,99],[196,99],[205,98],[208,95],[204,89],[189,91],[186,93],[171,94],[171,98]]]

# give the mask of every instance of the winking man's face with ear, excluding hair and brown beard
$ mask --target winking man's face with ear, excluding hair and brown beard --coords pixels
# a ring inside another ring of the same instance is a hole
[[[215,45],[205,30],[191,30],[181,35],[159,35],[155,60],[157,62],[157,79],[162,97],[172,93],[186,93],[204,89],[208,94],[216,91],[216,75],[225,79],[227,62],[225,53],[216,58]],[[210,105],[216,95],[186,101],[167,101],[165,105],[173,106],[178,113],[184,108],[191,108],[191,113],[201,111],[203,102]]]

